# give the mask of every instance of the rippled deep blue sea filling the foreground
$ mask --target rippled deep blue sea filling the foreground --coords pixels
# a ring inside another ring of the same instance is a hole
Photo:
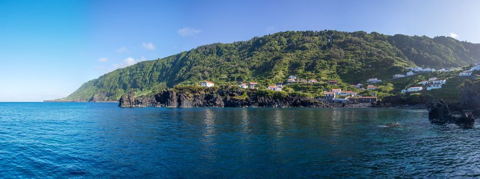
[[[480,177],[480,131],[427,115],[0,103],[0,178]]]

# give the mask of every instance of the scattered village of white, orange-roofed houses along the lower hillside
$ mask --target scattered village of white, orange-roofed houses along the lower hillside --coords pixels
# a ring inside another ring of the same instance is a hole
[[[406,71],[405,74],[396,74],[393,75],[390,79],[382,80],[379,78],[369,78],[365,80],[365,84],[363,83],[355,83],[346,85],[343,83],[338,82],[337,80],[326,80],[322,81],[325,85],[335,86],[330,88],[329,90],[323,91],[321,96],[314,97],[319,100],[324,100],[328,102],[360,102],[360,103],[371,103],[376,102],[378,99],[377,97],[377,89],[378,86],[375,85],[376,83],[382,83],[385,81],[392,82],[395,80],[400,80],[402,78],[408,78],[412,76],[416,76],[419,74],[425,73],[434,73],[441,74],[441,73],[455,73],[459,72],[457,77],[472,77],[472,79],[480,78],[480,75],[473,75],[474,71],[480,71],[480,63],[476,63],[474,65],[470,65],[469,69],[464,71],[464,68],[449,68],[449,69],[440,69],[435,70],[433,68],[421,68],[419,66],[416,67],[406,67],[404,68]],[[317,79],[300,79],[297,78],[295,75],[290,75],[285,81],[277,82],[273,85],[268,85],[266,89],[275,92],[281,92],[282,88],[291,84],[299,84],[299,83],[319,83]],[[416,86],[409,86],[404,88],[400,91],[402,94],[406,93],[418,93],[421,91],[431,91],[433,89],[442,88],[442,85],[447,83],[447,79],[438,78],[438,77],[430,77],[426,80],[418,81],[414,84]],[[203,81],[200,84],[203,87],[212,87],[214,83],[211,81]],[[248,82],[248,83],[241,83],[238,85],[244,89],[258,89],[259,83],[257,82]]]

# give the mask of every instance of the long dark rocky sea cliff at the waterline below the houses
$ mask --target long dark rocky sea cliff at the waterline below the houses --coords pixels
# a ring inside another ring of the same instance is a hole
[[[273,93],[276,94],[276,93]],[[165,89],[155,98],[135,98],[134,93],[123,95],[121,107],[345,107],[341,103],[323,103],[296,95],[271,95],[238,89],[202,89],[179,91]]]

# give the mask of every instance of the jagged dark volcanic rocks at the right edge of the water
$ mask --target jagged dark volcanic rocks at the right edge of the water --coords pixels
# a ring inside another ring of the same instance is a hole
[[[475,119],[480,117],[480,81],[465,81],[461,89],[459,103],[448,104],[438,100],[430,105],[428,119],[434,124],[457,124],[473,127]]]

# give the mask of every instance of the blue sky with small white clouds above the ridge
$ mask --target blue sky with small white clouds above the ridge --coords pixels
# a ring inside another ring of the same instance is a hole
[[[287,30],[480,42],[480,1],[0,0],[0,101],[68,96],[117,68]]]

